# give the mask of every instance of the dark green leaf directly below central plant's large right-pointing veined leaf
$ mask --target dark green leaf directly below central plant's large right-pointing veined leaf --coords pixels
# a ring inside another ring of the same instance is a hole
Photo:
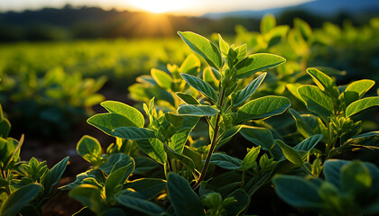
[[[275,144],[272,132],[266,128],[244,126],[239,132],[245,139],[253,142],[256,146],[260,146],[264,150],[270,151]]]

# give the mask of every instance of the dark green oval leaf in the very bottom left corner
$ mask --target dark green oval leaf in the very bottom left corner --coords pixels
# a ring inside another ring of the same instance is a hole
[[[3,202],[0,214],[14,216],[40,192],[41,184],[27,184],[11,193]]]

